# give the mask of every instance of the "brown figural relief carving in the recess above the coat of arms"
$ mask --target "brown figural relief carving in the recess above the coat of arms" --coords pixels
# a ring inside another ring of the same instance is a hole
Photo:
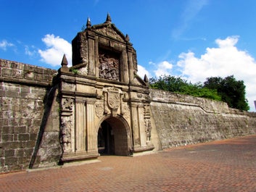
[[[119,81],[119,59],[99,54],[99,78]]]

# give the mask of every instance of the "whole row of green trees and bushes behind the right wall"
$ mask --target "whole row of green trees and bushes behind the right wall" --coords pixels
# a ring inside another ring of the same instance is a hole
[[[171,91],[180,94],[203,97],[217,101],[224,101],[229,107],[249,110],[245,99],[245,85],[243,80],[236,80],[233,75],[226,78],[207,78],[205,83],[188,83],[181,77],[164,75],[160,78],[150,78],[151,88]]]

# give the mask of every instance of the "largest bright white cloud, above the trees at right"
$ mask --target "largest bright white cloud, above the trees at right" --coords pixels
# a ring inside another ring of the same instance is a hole
[[[225,78],[228,75],[234,75],[236,80],[244,80],[250,110],[255,111],[256,62],[247,51],[236,48],[238,41],[238,36],[217,39],[215,43],[218,48],[207,48],[206,53],[199,58],[191,51],[182,53],[177,65],[192,83],[204,82],[210,77]]]

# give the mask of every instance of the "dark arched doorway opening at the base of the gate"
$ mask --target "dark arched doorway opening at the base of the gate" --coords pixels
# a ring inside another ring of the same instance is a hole
[[[130,131],[121,117],[109,117],[102,121],[98,130],[98,151],[101,155],[129,155]]]

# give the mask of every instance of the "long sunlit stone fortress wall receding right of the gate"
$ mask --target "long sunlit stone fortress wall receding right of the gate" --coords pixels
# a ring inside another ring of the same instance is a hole
[[[152,115],[162,148],[256,133],[256,113],[210,99],[151,90]]]

